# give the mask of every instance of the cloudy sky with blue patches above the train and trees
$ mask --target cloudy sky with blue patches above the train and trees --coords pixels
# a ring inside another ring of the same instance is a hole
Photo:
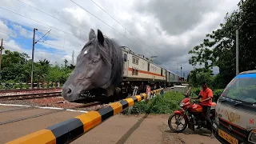
[[[218,29],[239,0],[2,0],[0,38],[6,50],[32,54],[34,61],[74,64],[90,29],[101,30],[174,73],[188,74],[189,50]],[[200,67],[200,66],[197,66]],[[214,67],[218,74],[218,67]]]

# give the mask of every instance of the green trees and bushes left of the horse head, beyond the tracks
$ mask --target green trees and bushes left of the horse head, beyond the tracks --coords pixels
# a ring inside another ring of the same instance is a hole
[[[6,86],[0,86],[0,89],[28,88],[29,85],[15,85],[14,83],[30,83],[31,63],[32,61],[26,53],[4,50],[0,82],[6,83]],[[68,63],[66,59],[64,60],[64,65],[58,65],[56,62],[52,65],[47,59],[34,62],[34,83],[60,82],[62,86],[72,70],[74,70],[74,65]],[[55,85],[54,83],[50,86]]]

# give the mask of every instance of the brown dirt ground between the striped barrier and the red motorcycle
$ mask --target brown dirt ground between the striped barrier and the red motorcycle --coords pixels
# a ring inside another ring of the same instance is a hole
[[[76,139],[78,143],[115,143],[115,144],[156,144],[156,143],[188,143],[219,144],[217,139],[209,138],[207,130],[185,130],[181,134],[170,132],[167,124],[169,115],[124,116],[116,115],[87,134]]]

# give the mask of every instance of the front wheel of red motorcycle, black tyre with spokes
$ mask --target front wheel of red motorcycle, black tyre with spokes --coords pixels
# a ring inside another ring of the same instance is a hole
[[[177,124],[177,117],[178,117],[178,120],[179,120],[179,118],[182,118],[185,120],[185,123],[182,124],[183,127],[180,130],[177,130],[178,126],[180,126],[180,122],[178,122],[178,124]],[[173,118],[174,118],[174,120],[176,120],[176,122],[172,122]],[[178,126],[176,128],[174,128],[171,125],[172,123],[176,123]],[[183,115],[180,115],[180,114],[171,114],[170,117],[168,118],[168,126],[170,127],[170,130],[172,130],[174,133],[181,133],[182,131],[184,131],[186,129],[187,124],[188,124],[188,122],[187,122],[186,118],[184,118]]]

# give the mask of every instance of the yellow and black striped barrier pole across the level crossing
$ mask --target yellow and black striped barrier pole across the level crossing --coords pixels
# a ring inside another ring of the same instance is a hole
[[[152,90],[151,94],[156,94],[162,89]],[[89,130],[100,125],[106,119],[114,116],[125,110],[126,108],[133,106],[134,102],[140,102],[146,98],[146,94],[136,95],[131,98],[123,99],[120,102],[113,102],[110,105],[99,109],[98,111],[90,111],[86,114],[78,115],[77,117],[70,118],[65,122],[55,124],[54,126],[47,127],[43,130],[38,130],[32,134],[27,134],[22,138],[15,139],[7,144],[13,143],[28,143],[28,144],[58,144],[58,143],[70,143],[75,139],[86,134]]]

